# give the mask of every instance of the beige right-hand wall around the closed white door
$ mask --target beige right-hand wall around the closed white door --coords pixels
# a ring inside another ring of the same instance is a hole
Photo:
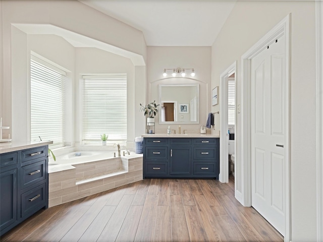
[[[212,45],[212,88],[220,85],[221,73],[237,61],[237,104],[241,104],[241,56],[291,14],[292,241],[316,240],[314,10],[314,1],[238,1]],[[240,114],[237,119],[241,134]],[[241,150],[237,153],[239,157]],[[238,183],[241,189],[241,180]]]

